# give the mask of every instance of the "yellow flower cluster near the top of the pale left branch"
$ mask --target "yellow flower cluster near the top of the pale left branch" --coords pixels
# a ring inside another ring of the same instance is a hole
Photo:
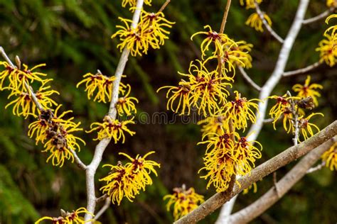
[[[122,43],[117,47],[122,52],[124,47],[130,50],[132,56],[141,56],[147,54],[149,47],[159,49],[164,45],[164,40],[169,39],[169,31],[165,28],[171,28],[174,24],[168,21],[164,13],[148,13],[141,11],[141,18],[137,26],[132,25],[132,21],[127,18],[119,19],[124,26],[116,26],[119,28],[111,38],[119,37]]]

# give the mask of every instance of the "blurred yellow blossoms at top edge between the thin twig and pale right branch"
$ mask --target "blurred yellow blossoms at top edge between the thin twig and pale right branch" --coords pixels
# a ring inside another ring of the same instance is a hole
[[[262,0],[240,0],[240,4],[242,6],[246,6],[246,9],[255,9],[256,6],[255,4],[259,5],[262,3]],[[262,21],[262,16],[263,20],[265,23],[267,23],[269,26],[272,26],[272,20],[269,18],[267,13],[261,12],[262,15],[260,16],[259,13],[252,13],[250,17],[248,17],[246,21],[246,25],[250,26],[252,28],[255,28],[255,30],[263,32],[263,21]]]

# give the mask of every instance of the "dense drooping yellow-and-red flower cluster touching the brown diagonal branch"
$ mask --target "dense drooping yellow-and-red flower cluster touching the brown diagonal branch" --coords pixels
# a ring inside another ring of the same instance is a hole
[[[221,134],[210,134],[214,137],[198,143],[207,144],[203,158],[205,167],[199,172],[207,172],[201,177],[209,179],[207,188],[213,184],[217,192],[222,192],[228,189],[233,176],[250,173],[250,170],[255,167],[256,159],[262,156],[260,152],[262,145],[257,141],[248,141],[247,137],[240,137],[237,133],[225,130]]]

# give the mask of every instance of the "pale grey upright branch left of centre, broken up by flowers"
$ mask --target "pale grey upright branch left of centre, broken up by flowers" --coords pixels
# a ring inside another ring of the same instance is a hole
[[[134,15],[132,17],[132,28],[136,28],[141,9],[143,7],[144,0],[138,0],[136,10],[134,11]],[[117,110],[116,110],[116,103],[118,101],[118,91],[119,91],[119,84],[122,78],[122,74],[124,72],[125,65],[127,65],[127,60],[129,57],[130,50],[127,49],[127,47],[124,47],[124,50],[122,51],[122,55],[119,58],[119,62],[116,68],[116,71],[114,73],[114,79],[113,87],[112,87],[112,100],[110,102],[109,106],[109,112],[108,115],[112,120],[116,119],[117,116]],[[98,142],[98,144],[95,147],[95,154],[92,158],[92,162],[87,166],[87,170],[85,172],[86,175],[86,184],[87,184],[87,211],[90,213],[95,213],[95,207],[96,207],[96,196],[95,196],[95,173],[100,165],[100,162],[102,161],[103,153],[105,152],[105,149],[107,148],[107,145],[109,145],[111,139],[104,138]],[[90,220],[92,218],[92,215],[85,214],[85,220]],[[90,222],[89,222],[90,223]]]

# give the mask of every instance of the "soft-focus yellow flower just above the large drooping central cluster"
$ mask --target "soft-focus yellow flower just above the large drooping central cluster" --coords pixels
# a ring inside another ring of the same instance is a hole
[[[220,134],[223,130],[228,130],[228,120],[225,116],[210,116],[198,122],[198,125],[203,124],[201,132],[204,135],[208,133]],[[208,138],[214,137],[212,134],[207,135]]]

